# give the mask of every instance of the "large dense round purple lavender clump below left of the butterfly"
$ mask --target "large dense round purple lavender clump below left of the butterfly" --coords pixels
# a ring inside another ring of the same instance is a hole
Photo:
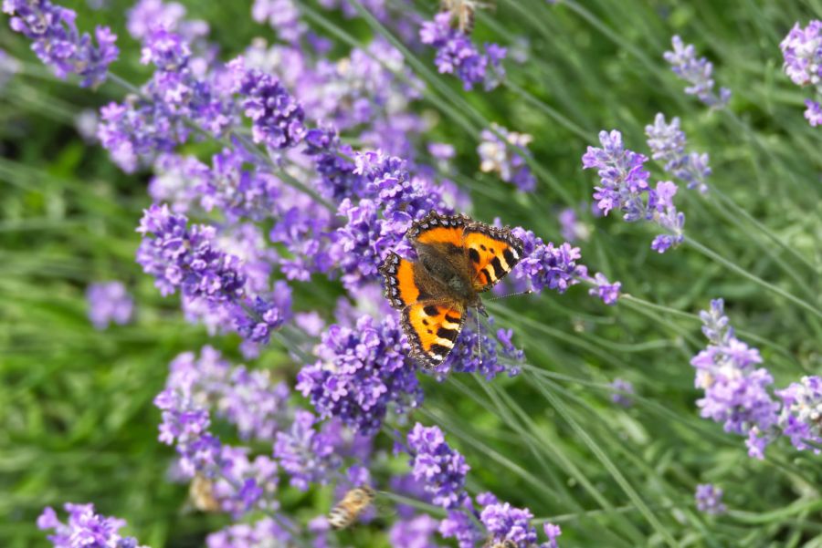
[[[389,407],[402,413],[422,402],[395,315],[380,322],[364,315],[355,328],[330,326],[316,353],[320,359],[297,375],[297,389],[323,418],[339,417],[368,435],[380,428]]]

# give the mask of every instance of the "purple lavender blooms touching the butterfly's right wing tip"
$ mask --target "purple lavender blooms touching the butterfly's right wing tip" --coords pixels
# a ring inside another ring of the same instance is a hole
[[[562,294],[588,274],[585,265],[576,264],[582,256],[578,247],[572,247],[570,243],[559,246],[543,243],[534,233],[519,226],[512,232],[522,240],[524,253],[520,264],[511,272],[511,279],[523,284],[524,288],[542,293],[548,287]]]

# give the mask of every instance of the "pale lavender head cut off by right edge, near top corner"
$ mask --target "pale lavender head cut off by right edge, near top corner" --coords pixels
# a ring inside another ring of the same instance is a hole
[[[788,78],[797,86],[811,87],[817,96],[806,99],[805,118],[811,126],[822,125],[822,21],[814,19],[805,27],[796,23],[779,47]]]

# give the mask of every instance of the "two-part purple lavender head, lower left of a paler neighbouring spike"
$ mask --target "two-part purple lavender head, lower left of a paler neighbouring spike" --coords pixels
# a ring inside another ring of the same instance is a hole
[[[645,169],[648,158],[623,146],[622,134],[617,129],[610,133],[600,131],[602,148],[588,147],[583,155],[583,168],[596,169],[600,186],[595,187],[594,199],[606,215],[612,209],[624,212],[627,222],[651,221],[665,229],[651,243],[651,249],[665,253],[684,240],[685,214],[677,212],[673,197],[677,185],[659,181],[656,189],[648,185]]]

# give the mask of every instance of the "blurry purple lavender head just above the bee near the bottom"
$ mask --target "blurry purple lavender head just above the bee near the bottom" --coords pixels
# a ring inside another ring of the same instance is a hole
[[[297,411],[290,429],[277,433],[274,456],[290,475],[292,486],[305,491],[310,483],[325,483],[333,470],[340,467],[337,448],[342,445],[339,423],[327,422],[315,429],[315,417],[309,411]]]

